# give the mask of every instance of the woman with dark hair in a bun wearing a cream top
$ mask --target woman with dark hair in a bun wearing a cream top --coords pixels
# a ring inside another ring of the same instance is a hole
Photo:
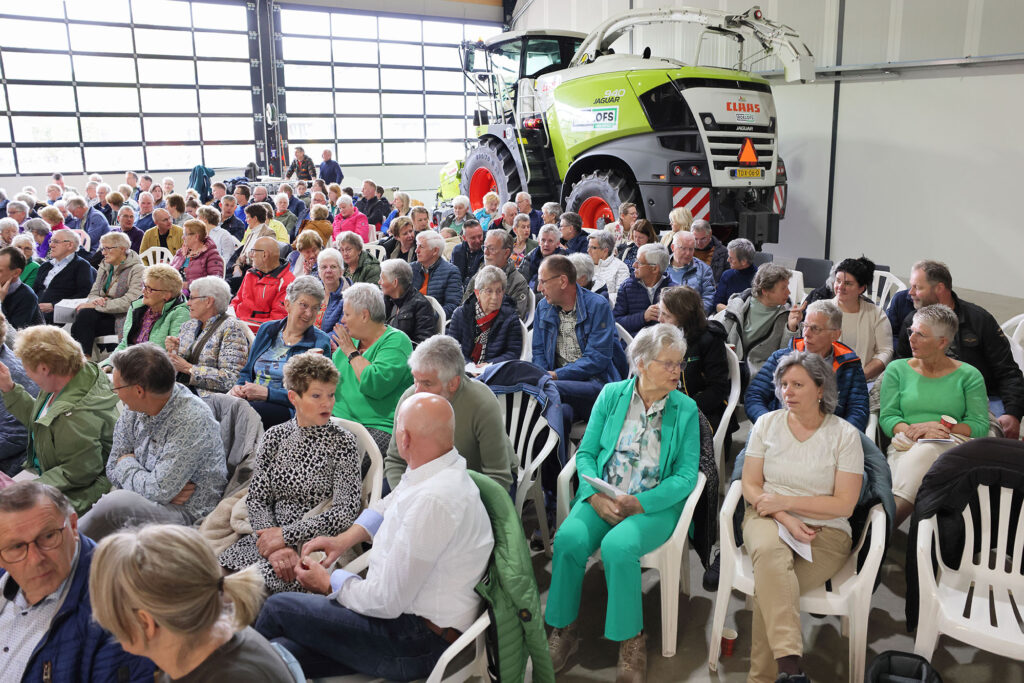
[[[893,358],[893,330],[886,311],[864,296],[873,280],[874,263],[861,256],[841,261],[833,282],[833,301],[843,311],[840,341],[860,356],[868,382],[877,379]]]

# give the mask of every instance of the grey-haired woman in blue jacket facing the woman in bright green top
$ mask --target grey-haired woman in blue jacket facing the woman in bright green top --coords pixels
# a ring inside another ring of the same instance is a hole
[[[284,385],[288,359],[314,349],[325,355],[331,353],[330,337],[314,325],[324,296],[324,285],[312,275],[296,278],[286,291],[288,314],[259,327],[249,358],[228,391],[256,409],[264,429],[280,425],[294,415]]]

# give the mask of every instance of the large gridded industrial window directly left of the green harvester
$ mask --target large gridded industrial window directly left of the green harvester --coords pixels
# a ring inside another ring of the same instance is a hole
[[[434,164],[465,155],[472,85],[458,45],[498,25],[281,10],[289,143],[342,165]]]

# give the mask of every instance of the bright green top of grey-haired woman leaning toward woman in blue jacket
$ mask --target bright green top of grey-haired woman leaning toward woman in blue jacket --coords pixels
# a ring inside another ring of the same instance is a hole
[[[413,342],[404,332],[392,327],[362,352],[370,367],[362,371],[360,379],[355,379],[348,356],[340,348],[335,351],[334,365],[341,379],[334,394],[334,416],[393,433],[394,409],[402,392],[413,384],[413,373],[409,370],[412,354]]]

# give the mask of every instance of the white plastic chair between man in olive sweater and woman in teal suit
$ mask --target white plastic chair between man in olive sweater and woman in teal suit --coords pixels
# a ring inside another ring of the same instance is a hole
[[[521,519],[526,501],[532,501],[544,547],[550,550],[551,529],[548,527],[548,515],[544,507],[541,466],[558,447],[558,434],[545,419],[541,404],[527,393],[515,391],[503,394],[498,396],[498,404],[502,409],[512,450],[519,458],[515,511]]]

